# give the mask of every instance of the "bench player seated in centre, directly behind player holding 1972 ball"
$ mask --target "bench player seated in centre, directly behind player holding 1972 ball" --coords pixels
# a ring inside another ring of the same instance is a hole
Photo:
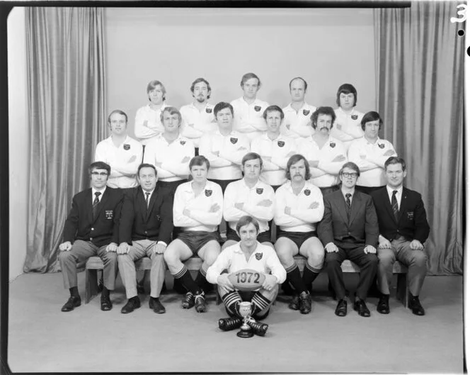
[[[263,169],[263,159],[255,152],[248,152],[241,160],[243,179],[234,181],[224,194],[224,219],[227,227],[227,241],[222,249],[240,241],[236,233],[236,224],[246,215],[253,216],[258,221],[258,241],[263,245],[273,247],[270,239],[268,222],[274,216],[274,190],[268,184],[260,181]]]

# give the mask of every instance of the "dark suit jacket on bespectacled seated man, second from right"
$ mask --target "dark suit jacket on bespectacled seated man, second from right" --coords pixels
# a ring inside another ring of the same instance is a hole
[[[325,213],[319,223],[317,232],[323,245],[333,242],[338,245],[345,237],[353,237],[358,245],[377,247],[379,225],[372,198],[357,189],[351,203],[351,214],[348,220],[345,198],[341,190],[323,198]]]

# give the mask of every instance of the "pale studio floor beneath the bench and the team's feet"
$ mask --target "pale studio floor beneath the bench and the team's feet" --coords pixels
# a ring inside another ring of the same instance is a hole
[[[353,293],[357,275],[346,274]],[[84,272],[79,274],[82,305],[70,313],[62,274],[23,274],[10,284],[8,365],[18,372],[378,372],[462,373],[462,276],[428,276],[421,293],[426,310],[415,316],[391,298],[391,313],[377,313],[369,298],[370,318],[348,303],[348,315],[334,315],[336,301],[326,293],[326,274],[314,283],[309,315],[287,308],[279,296],[265,323],[265,337],[241,339],[222,332],[217,320],[223,304],[209,296],[209,310],[180,308],[181,296],[165,293],[166,314],[142,307],[121,314],[125,291],[112,293],[113,310],[103,312],[100,298],[84,303]]]

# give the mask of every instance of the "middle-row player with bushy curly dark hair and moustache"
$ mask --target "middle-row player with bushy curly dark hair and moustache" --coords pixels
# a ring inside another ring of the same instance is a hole
[[[336,115],[331,107],[319,107],[311,114],[314,133],[299,141],[299,153],[309,161],[310,182],[323,196],[338,190],[338,172],[347,161],[343,143],[330,135]]]

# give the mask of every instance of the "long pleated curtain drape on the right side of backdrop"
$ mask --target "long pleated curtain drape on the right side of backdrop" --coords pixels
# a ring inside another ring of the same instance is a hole
[[[462,273],[464,38],[457,1],[374,9],[377,108],[384,136],[407,162],[431,233],[430,274]]]

